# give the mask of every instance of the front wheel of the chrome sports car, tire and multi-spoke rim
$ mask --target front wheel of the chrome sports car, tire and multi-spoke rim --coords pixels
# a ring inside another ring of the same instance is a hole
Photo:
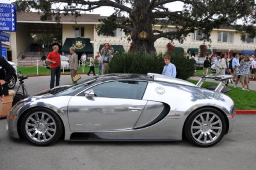
[[[20,132],[29,143],[48,146],[60,139],[63,125],[55,112],[45,108],[35,108],[22,116]]]

